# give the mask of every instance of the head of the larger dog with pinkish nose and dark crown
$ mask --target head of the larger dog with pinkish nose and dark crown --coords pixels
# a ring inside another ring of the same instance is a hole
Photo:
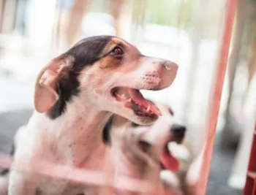
[[[143,56],[117,37],[82,39],[39,73],[35,108],[58,118],[68,104],[77,102],[80,108],[93,105],[94,110],[113,112],[135,123],[152,123],[161,112],[139,90],[166,88],[177,70],[175,63]]]

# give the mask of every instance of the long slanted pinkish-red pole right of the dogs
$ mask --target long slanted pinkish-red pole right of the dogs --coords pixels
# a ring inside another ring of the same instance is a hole
[[[206,194],[208,183],[208,175],[211,166],[211,157],[214,148],[214,140],[216,134],[216,126],[219,115],[219,105],[222,95],[222,86],[225,79],[225,72],[227,67],[227,58],[230,49],[230,39],[233,28],[233,20],[236,14],[236,0],[227,0],[225,9],[225,23],[222,36],[221,48],[219,50],[219,61],[217,62],[217,72],[214,80],[212,98],[208,110],[208,126],[206,136],[206,149],[204,151],[203,167],[201,168],[200,177],[195,187],[197,195]]]

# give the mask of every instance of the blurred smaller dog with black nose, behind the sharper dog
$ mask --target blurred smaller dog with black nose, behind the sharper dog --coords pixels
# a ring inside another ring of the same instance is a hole
[[[178,171],[179,162],[169,152],[168,145],[170,142],[181,144],[187,128],[175,121],[170,107],[156,102],[152,104],[157,104],[162,112],[162,117],[156,122],[140,126],[126,118],[113,115],[105,125],[102,139],[111,148],[116,175],[146,180],[153,185],[162,186],[164,194],[178,195],[181,194],[178,179],[176,175],[170,177],[170,173]],[[116,190],[116,194],[136,193]]]

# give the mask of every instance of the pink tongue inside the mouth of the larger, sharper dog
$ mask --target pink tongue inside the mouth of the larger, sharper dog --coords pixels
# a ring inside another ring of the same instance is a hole
[[[158,107],[156,107],[154,104],[152,104],[151,102],[146,101],[146,99],[144,99],[143,95],[140,93],[140,91],[138,90],[134,90],[132,88],[129,89],[129,96],[131,96],[132,100],[139,104],[139,105],[143,105],[146,108],[147,112],[153,112],[155,115],[161,116],[162,113],[161,111],[158,109]]]

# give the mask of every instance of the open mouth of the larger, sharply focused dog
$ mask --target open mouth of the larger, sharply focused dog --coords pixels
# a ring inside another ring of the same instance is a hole
[[[111,94],[117,101],[124,102],[125,106],[138,116],[157,118],[162,115],[159,108],[146,100],[138,89],[116,87],[111,90]]]

